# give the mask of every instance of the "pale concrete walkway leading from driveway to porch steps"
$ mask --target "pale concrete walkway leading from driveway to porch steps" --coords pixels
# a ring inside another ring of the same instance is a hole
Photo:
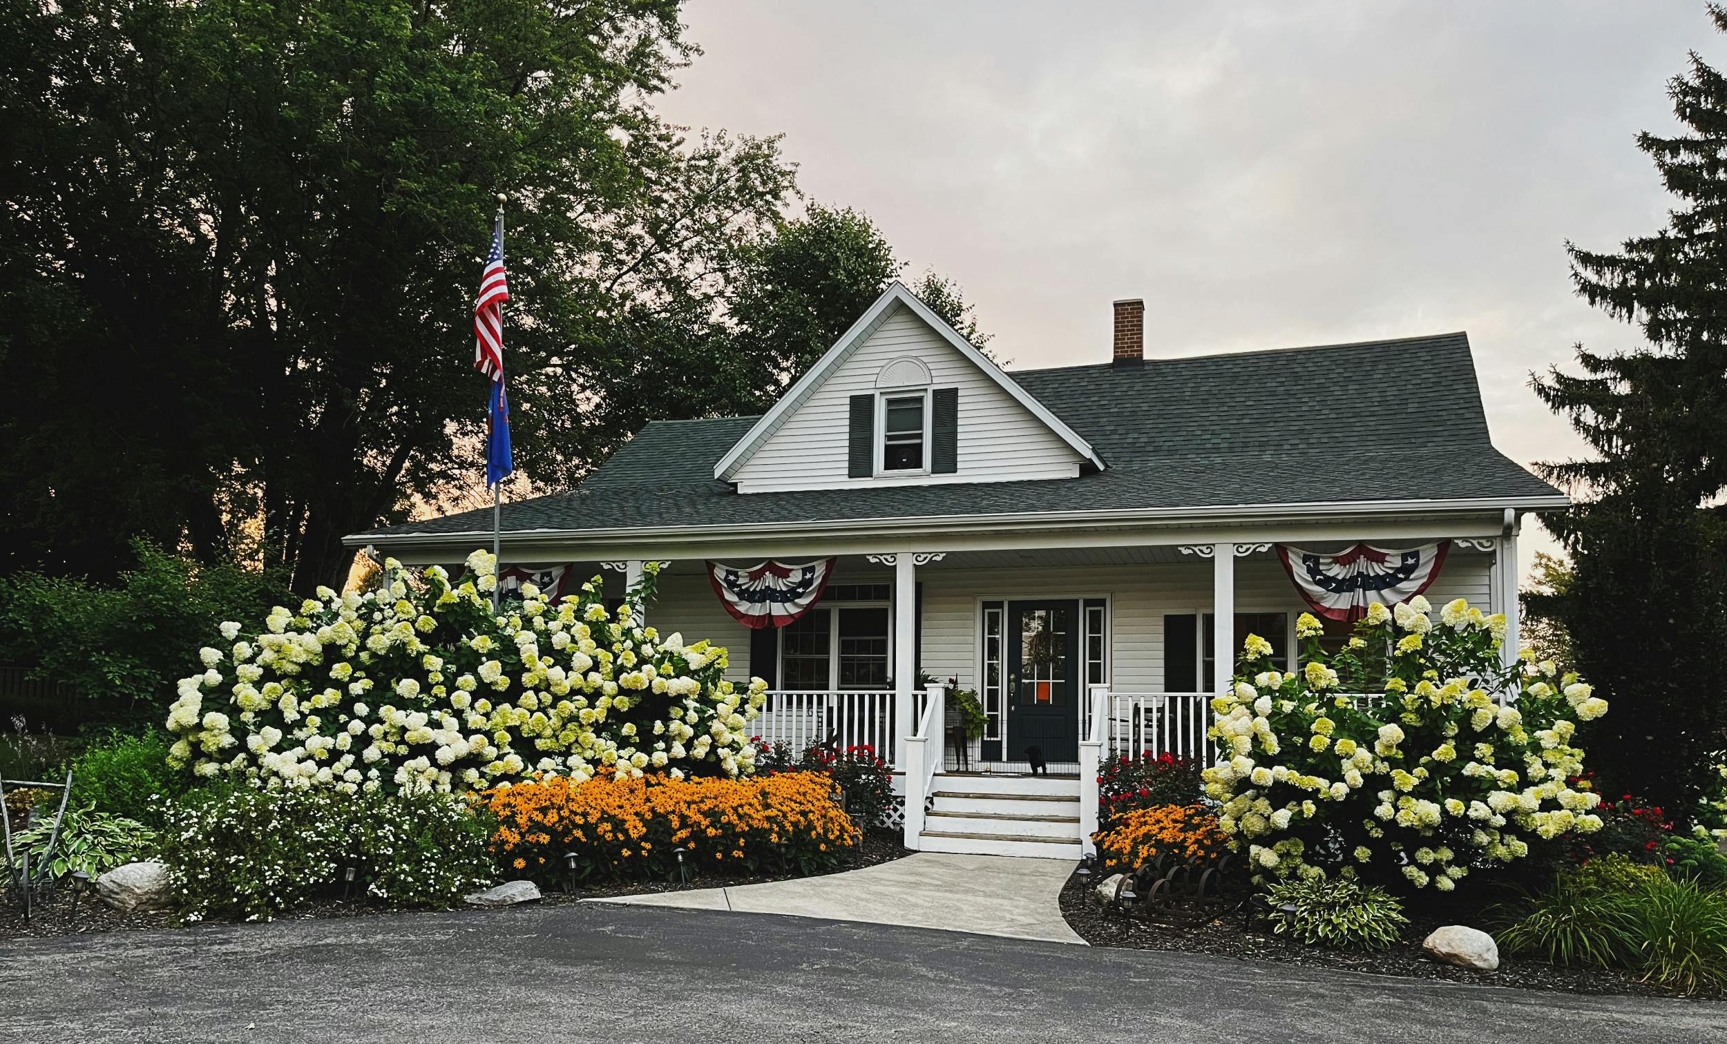
[[[782,913],[1085,946],[1057,904],[1069,873],[1072,863],[1062,859],[914,852],[824,877],[589,902]]]

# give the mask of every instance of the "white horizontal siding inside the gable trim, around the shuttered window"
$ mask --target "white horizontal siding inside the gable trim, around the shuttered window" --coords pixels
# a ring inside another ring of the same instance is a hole
[[[737,469],[732,476],[737,490],[881,483],[846,476],[850,399],[872,393],[882,366],[907,355],[929,368],[931,387],[960,390],[958,473],[924,481],[1069,478],[1079,473],[1081,457],[1072,447],[979,373],[927,323],[898,307]]]

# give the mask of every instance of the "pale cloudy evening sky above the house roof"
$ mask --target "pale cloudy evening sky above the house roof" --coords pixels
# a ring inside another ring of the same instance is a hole
[[[1152,355],[1466,330],[1525,464],[1578,452],[1528,373],[1635,343],[1572,295],[1565,242],[1660,224],[1632,136],[1673,126],[1687,50],[1727,62],[1701,0],[696,0],[686,19],[706,53],[661,110],[784,133],[805,192],[957,280],[1014,368],[1107,359],[1117,297],[1145,299]],[[1527,563],[1551,542],[1525,533]]]

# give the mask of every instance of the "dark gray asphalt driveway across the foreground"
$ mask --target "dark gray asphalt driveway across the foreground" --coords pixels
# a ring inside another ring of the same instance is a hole
[[[0,1041],[1724,1041],[1727,1006],[580,906],[0,942]]]

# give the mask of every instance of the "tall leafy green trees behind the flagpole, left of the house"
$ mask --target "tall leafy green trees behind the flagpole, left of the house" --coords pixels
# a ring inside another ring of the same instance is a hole
[[[798,216],[777,138],[653,110],[682,31],[675,0],[0,0],[0,571],[111,576],[142,535],[338,582],[344,533],[477,473],[499,192],[537,485],[760,409],[903,264]]]

